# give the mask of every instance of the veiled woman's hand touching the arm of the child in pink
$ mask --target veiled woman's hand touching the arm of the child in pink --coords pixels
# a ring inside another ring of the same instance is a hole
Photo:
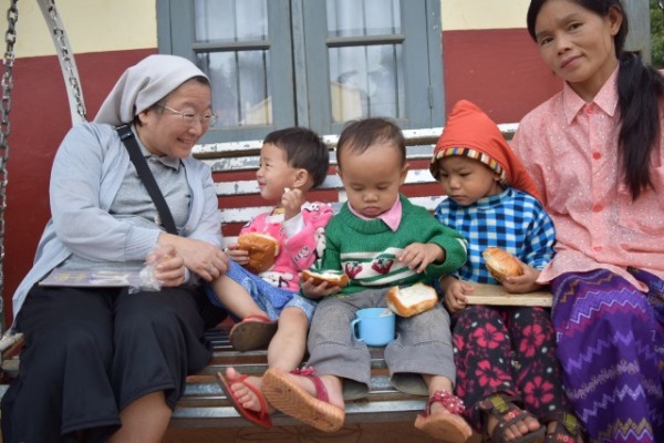
[[[177,255],[184,259],[187,269],[206,281],[212,281],[228,270],[226,254],[207,241],[162,233],[158,244],[173,246]]]

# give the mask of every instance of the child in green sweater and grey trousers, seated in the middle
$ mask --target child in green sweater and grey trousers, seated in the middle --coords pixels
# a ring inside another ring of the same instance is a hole
[[[343,425],[344,399],[369,393],[371,356],[352,337],[355,311],[386,307],[392,287],[428,282],[466,260],[460,234],[400,195],[408,171],[405,150],[398,126],[384,119],[353,122],[342,132],[338,173],[347,203],[325,229],[321,269],[344,271],[350,284],[339,289],[302,282],[307,297],[321,299],[308,340],[311,368],[291,373],[269,369],[263,378],[262,392],[274,408],[323,431]],[[415,426],[465,442],[471,430],[453,394],[456,371],[447,311],[437,303],[417,316],[397,317],[396,332],[384,352],[391,382],[400,391],[429,396]]]

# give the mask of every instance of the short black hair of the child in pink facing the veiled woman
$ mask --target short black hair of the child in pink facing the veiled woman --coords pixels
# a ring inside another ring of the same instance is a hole
[[[273,131],[263,140],[286,152],[286,161],[295,168],[303,168],[313,178],[313,187],[328,176],[330,152],[321,137],[307,127],[287,127]]]

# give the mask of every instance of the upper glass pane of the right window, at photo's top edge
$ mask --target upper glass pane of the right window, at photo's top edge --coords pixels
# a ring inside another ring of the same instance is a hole
[[[328,35],[401,33],[400,0],[328,0]]]

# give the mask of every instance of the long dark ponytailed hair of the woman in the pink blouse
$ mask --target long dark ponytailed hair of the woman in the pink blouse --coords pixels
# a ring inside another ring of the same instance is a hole
[[[528,8],[528,32],[532,40],[535,22],[548,0],[532,0]],[[660,101],[664,97],[664,79],[639,54],[624,51],[629,32],[627,14],[620,0],[572,0],[579,6],[606,17],[611,9],[622,17],[622,25],[613,38],[618,71],[618,105],[622,126],[619,134],[620,158],[625,184],[632,199],[639,198],[647,187],[653,187],[651,154],[660,140]]]

